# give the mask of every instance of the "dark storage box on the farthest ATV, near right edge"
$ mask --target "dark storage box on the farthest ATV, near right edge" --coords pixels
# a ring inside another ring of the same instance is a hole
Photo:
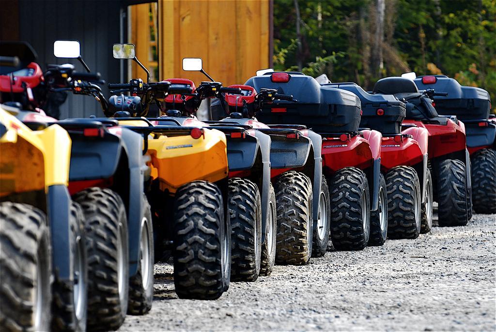
[[[489,119],[491,98],[481,88],[462,86],[445,75],[420,76],[415,79],[419,90],[434,89],[447,96],[434,96],[435,109],[442,115],[456,115],[459,120]]]

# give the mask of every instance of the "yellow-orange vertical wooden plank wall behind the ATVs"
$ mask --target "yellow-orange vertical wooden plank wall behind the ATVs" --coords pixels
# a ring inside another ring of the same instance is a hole
[[[207,78],[183,71],[182,59],[200,57],[225,86],[243,84],[269,66],[269,0],[159,0],[160,78]]]

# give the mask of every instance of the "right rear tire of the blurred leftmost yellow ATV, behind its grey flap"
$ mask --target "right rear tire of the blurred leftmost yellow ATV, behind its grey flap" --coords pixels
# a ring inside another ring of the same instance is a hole
[[[70,270],[72,280],[59,280],[55,275],[52,301],[52,331],[86,331],[88,309],[88,261],[84,214],[72,202],[69,215]]]

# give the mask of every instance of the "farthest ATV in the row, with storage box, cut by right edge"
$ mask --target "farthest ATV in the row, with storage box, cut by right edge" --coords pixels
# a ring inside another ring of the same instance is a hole
[[[477,213],[496,213],[496,117],[491,97],[481,88],[462,86],[445,75],[419,76],[419,89],[443,91],[433,96],[433,106],[442,115],[455,115],[465,124],[472,164],[472,198]]]

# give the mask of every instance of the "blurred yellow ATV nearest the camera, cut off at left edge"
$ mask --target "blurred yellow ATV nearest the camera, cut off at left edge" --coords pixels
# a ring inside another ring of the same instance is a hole
[[[25,43],[5,46],[2,75],[36,59]],[[0,105],[0,330],[84,331],[86,232],[68,191],[71,139],[58,125],[32,131],[18,106]]]

